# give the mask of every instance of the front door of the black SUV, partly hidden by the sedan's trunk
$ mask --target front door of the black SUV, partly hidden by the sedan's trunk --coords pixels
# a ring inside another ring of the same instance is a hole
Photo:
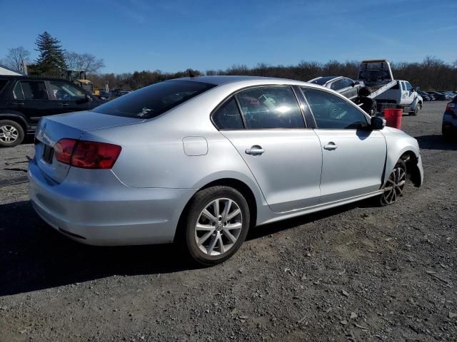
[[[86,94],[66,81],[47,81],[49,97],[55,114],[89,109]]]

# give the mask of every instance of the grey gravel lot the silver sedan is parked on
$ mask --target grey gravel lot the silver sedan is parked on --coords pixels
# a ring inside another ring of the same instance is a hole
[[[0,150],[0,341],[457,341],[457,145],[445,102],[403,129],[425,184],[258,227],[229,261],[193,269],[171,246],[61,237],[26,194],[33,145]]]

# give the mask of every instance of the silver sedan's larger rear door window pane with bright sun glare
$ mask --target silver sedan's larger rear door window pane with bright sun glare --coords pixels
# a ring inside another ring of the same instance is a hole
[[[289,86],[266,86],[236,94],[246,128],[305,128],[295,94]]]

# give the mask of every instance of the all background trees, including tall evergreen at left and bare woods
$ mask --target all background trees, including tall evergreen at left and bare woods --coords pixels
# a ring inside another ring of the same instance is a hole
[[[10,48],[1,64],[24,72],[24,63],[28,65],[31,75],[61,76],[64,70],[86,71],[88,78],[94,83],[95,88],[129,88],[139,89],[150,84],[166,81],[171,78],[189,76],[189,71],[167,73],[156,71],[135,71],[134,73],[101,73],[104,68],[104,60],[96,58],[91,53],[76,53],[66,51],[60,41],[49,32],[41,33],[36,38],[38,57],[31,61],[31,53],[23,46]],[[230,68],[207,71],[191,71],[195,75],[246,75],[268,76],[278,78],[291,78],[299,81],[309,81],[318,76],[347,76],[356,79],[359,61],[328,61],[318,63],[313,61],[301,61],[291,66],[273,66],[266,63],[258,63],[252,68],[238,64]],[[457,60],[454,63],[445,63],[439,58],[427,56],[420,63],[391,63],[393,76],[398,80],[409,81],[414,87],[422,90],[457,90]]]

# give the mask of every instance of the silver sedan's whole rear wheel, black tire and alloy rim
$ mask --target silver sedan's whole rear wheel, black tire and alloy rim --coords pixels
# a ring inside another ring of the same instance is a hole
[[[197,192],[182,222],[181,240],[199,264],[210,266],[229,259],[248,234],[250,213],[241,192],[227,186]]]

